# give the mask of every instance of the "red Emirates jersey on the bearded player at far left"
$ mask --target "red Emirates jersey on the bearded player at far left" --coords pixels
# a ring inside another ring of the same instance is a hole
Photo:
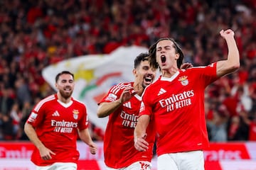
[[[38,138],[55,155],[52,159],[41,159],[37,148],[33,150],[31,161],[38,166],[55,162],[78,162],[78,129],[88,127],[86,108],[83,103],[71,98],[70,103],[58,101],[57,94],[44,98],[33,108],[27,123],[36,129]]]

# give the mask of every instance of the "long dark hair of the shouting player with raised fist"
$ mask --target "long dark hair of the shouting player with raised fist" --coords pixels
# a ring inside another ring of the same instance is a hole
[[[159,64],[157,64],[157,62],[156,62],[156,45],[161,40],[170,40],[171,42],[174,42],[174,48],[176,50],[176,53],[179,54],[179,57],[177,60],[177,67],[178,67],[178,69],[180,69],[181,64],[183,62],[184,55],[183,55],[180,45],[178,45],[178,43],[173,38],[160,38],[153,45],[151,45],[151,47],[149,47],[149,64],[150,64],[150,66],[154,67],[155,69],[157,69],[157,68],[160,69]]]

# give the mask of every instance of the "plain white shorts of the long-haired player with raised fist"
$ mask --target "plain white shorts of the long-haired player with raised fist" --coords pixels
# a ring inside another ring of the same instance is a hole
[[[158,170],[203,170],[203,151],[161,154],[157,158]]]

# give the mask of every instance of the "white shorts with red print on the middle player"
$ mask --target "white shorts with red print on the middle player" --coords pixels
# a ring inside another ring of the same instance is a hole
[[[129,166],[120,169],[112,169],[110,167],[107,167],[107,170],[150,170],[151,167],[152,164],[150,162],[139,161],[134,162],[133,164],[130,164]]]

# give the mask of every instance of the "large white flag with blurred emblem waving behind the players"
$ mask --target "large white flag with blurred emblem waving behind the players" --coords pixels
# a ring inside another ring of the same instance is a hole
[[[134,58],[146,47],[119,47],[107,55],[85,55],[63,60],[43,69],[43,78],[55,89],[55,75],[63,70],[75,75],[73,96],[85,103],[89,120],[105,131],[107,118],[97,118],[97,102],[110,86],[134,80]]]

